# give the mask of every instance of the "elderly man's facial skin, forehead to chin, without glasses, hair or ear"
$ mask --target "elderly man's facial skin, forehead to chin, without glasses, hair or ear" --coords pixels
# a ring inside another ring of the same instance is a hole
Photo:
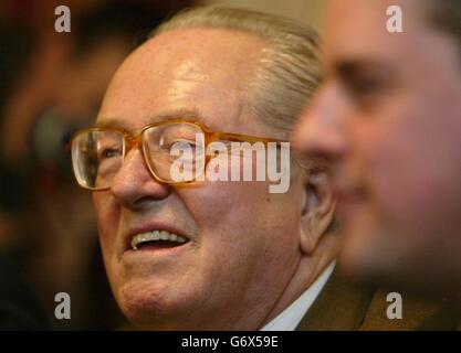
[[[138,132],[189,117],[213,130],[281,137],[245,100],[262,47],[222,30],[161,34],[122,65],[97,122]],[[292,180],[285,194],[270,194],[268,185],[168,186],[151,178],[139,150],[129,151],[112,189],[94,193],[104,260],[125,314],[154,329],[259,328],[301,257],[301,182]],[[130,248],[135,234],[155,229],[188,242]]]

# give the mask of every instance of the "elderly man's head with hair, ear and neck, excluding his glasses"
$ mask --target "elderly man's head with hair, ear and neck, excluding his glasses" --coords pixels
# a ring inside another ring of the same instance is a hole
[[[96,122],[135,135],[182,118],[213,131],[286,139],[317,85],[315,51],[313,33],[284,20],[193,10],[125,61]],[[175,186],[153,178],[147,153],[129,150],[109,189],[94,192],[107,274],[133,322],[258,329],[335,257],[336,239],[324,234],[334,202],[322,172],[293,163],[282,194],[269,193],[266,181]],[[135,249],[143,236],[159,240]]]

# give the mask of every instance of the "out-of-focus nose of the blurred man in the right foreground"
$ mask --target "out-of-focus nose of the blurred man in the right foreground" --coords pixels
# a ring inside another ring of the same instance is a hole
[[[318,95],[298,117],[293,132],[293,146],[304,157],[328,160],[346,151],[340,108],[332,95]]]

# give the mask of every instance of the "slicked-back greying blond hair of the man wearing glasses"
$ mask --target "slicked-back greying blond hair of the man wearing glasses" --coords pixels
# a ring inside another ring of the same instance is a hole
[[[306,100],[321,81],[317,35],[314,30],[281,17],[223,7],[199,7],[179,12],[158,34],[189,28],[224,29],[265,41],[247,104],[263,122],[290,132]]]

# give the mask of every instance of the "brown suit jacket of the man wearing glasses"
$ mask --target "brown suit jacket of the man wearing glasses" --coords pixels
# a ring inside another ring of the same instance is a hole
[[[402,293],[402,319],[386,315],[387,292],[346,281],[337,270],[326,282],[296,330],[401,331],[457,330],[460,313],[441,303]]]

